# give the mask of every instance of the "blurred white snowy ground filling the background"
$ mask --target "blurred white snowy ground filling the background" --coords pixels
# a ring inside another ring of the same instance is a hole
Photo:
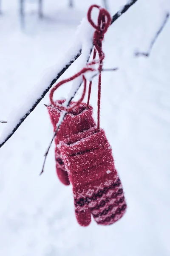
[[[45,0],[44,0],[45,1]],[[17,113],[40,86],[46,69],[57,64],[74,39],[91,0],[45,1],[44,20],[28,4],[20,29],[17,1],[2,0],[0,15],[0,119]],[[96,0],[98,4],[102,1]],[[108,0],[111,14],[126,0]],[[170,230],[170,20],[153,47],[169,0],[138,0],[105,36],[101,126],[113,148],[127,199],[125,216],[109,227],[93,221],[80,227],[74,216],[71,186],[55,175],[54,146],[40,177],[52,127],[43,103],[0,149],[0,255],[2,256],[169,256]],[[73,74],[76,61],[63,77]],[[70,85],[58,91],[67,96]],[[96,80],[92,101],[96,113]],[[95,115],[96,116],[96,115]],[[0,124],[0,132],[6,124]]]

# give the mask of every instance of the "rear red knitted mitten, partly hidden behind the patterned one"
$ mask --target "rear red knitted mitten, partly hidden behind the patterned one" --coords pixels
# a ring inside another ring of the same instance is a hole
[[[62,104],[63,102],[64,100],[59,100],[57,103]],[[74,103],[75,102],[72,102],[71,105]],[[54,131],[55,131],[56,125],[59,121],[61,111],[53,105],[49,105],[47,108],[48,108],[48,113],[50,115]],[[57,171],[59,180],[64,185],[69,185],[70,181],[68,178],[68,173],[65,171],[65,166],[60,156],[60,151],[59,151],[59,148],[57,148],[57,145],[59,144],[60,141],[62,141],[63,139],[65,139],[66,137],[72,134],[77,134],[91,127],[94,127],[96,124],[92,117],[92,113],[93,113],[93,108],[91,106],[87,107],[85,103],[81,103],[77,108],[74,108],[74,110],[71,111],[71,113],[68,113],[65,116],[65,119],[62,122],[59,128],[59,131],[57,132],[57,136],[55,137],[56,171]]]

